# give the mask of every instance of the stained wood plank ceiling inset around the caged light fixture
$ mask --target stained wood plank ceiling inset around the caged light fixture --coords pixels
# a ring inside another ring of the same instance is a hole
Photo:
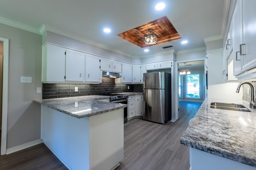
[[[181,39],[180,34],[176,31],[176,29],[166,16],[120,33],[118,34],[118,36],[135,45],[138,45],[139,47],[149,47],[152,45],[146,45],[144,43],[144,35],[149,33],[148,29],[153,29],[153,32],[157,36],[158,42],[153,45]]]

